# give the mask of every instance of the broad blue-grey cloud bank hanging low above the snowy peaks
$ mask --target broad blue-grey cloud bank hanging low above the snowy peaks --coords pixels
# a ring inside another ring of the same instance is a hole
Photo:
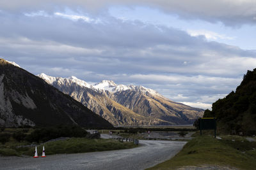
[[[254,51],[108,15],[86,22],[1,11],[0,21],[0,55],[31,73],[134,83],[177,101],[209,104],[256,63]]]

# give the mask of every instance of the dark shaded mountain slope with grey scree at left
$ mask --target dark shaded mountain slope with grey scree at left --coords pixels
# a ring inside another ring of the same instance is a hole
[[[41,78],[0,59],[0,126],[76,124],[112,127]]]

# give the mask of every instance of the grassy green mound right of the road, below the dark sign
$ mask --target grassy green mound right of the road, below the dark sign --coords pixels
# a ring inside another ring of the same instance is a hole
[[[205,164],[255,169],[256,150],[253,148],[256,148],[256,142],[248,142],[240,136],[221,136],[221,138],[220,140],[207,135],[197,136],[175,157],[149,169],[177,169]]]

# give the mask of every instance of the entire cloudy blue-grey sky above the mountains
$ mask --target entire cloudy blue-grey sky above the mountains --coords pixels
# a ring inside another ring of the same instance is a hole
[[[0,56],[211,110],[256,67],[255,0],[1,0]]]

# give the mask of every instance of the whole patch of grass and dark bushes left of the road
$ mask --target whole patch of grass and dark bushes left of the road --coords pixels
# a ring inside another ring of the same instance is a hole
[[[133,143],[120,143],[114,139],[100,139],[99,133],[88,134],[80,127],[59,126],[25,130],[6,128],[0,132],[0,136],[5,138],[1,138],[4,140],[0,143],[0,155],[3,156],[33,156],[35,146],[37,146],[38,155],[42,155],[43,146],[45,146],[46,155],[119,150],[137,146]],[[56,138],[60,139],[59,137],[66,138],[57,140]]]

